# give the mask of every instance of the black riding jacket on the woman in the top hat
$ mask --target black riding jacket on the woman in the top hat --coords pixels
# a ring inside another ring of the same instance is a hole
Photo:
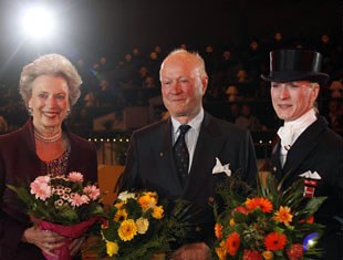
[[[280,165],[280,143],[273,149],[272,171],[280,179],[290,174],[284,187],[292,185],[299,175],[311,170],[321,176],[314,196],[328,196],[315,215],[315,221],[326,226],[321,246],[326,256],[323,259],[343,259],[343,139],[328,128],[326,121],[320,117],[295,141],[287,155],[284,167]],[[340,256],[340,257],[339,257]]]

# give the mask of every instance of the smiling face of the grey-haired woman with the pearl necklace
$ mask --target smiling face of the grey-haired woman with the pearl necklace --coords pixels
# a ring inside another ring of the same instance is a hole
[[[33,124],[43,132],[46,127],[61,127],[66,117],[69,86],[64,77],[41,75],[32,83],[32,96],[29,100],[32,108]]]

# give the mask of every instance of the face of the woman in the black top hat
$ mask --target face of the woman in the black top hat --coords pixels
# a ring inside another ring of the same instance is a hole
[[[272,82],[270,93],[278,117],[294,121],[313,107],[319,85],[308,81]]]

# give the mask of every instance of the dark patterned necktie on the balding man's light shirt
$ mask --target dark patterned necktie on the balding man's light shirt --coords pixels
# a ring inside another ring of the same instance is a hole
[[[188,177],[189,154],[185,141],[185,135],[189,128],[190,128],[189,125],[179,126],[180,134],[173,147],[177,174],[183,185],[184,180]]]

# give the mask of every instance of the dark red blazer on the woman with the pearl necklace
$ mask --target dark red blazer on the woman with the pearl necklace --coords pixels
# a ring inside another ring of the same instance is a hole
[[[71,154],[67,173],[80,171],[86,180],[97,180],[96,150],[92,143],[66,133]],[[18,204],[17,195],[7,185],[18,180],[32,181],[40,175],[41,160],[35,153],[32,118],[12,133],[0,136],[0,260],[44,259],[38,247],[21,242],[23,231],[31,226],[27,214]]]

